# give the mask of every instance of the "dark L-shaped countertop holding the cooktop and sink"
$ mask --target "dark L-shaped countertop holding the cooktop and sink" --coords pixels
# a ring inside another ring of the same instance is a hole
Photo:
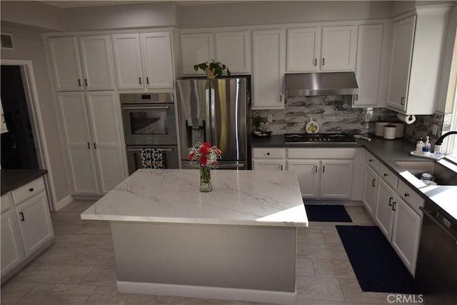
[[[266,139],[251,139],[253,148],[277,147],[277,148],[315,148],[315,147],[363,147],[376,156],[382,164],[397,174],[398,179],[415,190],[423,199],[438,205],[446,214],[457,220],[457,186],[428,186],[416,179],[413,174],[402,169],[396,161],[431,161],[431,159],[411,156],[410,152],[416,149],[416,145],[405,139],[385,140],[376,136],[368,136],[371,141],[357,139],[358,144],[286,144],[282,135],[271,135]],[[455,166],[457,168],[457,166]],[[454,171],[456,171],[454,169]],[[456,171],[457,172],[457,171]]]

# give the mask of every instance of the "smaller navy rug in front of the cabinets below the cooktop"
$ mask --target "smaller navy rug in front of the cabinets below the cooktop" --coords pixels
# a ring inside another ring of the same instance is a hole
[[[352,222],[344,206],[331,204],[305,204],[308,221]]]

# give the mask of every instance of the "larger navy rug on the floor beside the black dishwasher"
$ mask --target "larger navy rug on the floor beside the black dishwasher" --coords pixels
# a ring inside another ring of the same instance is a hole
[[[336,226],[363,291],[416,294],[413,276],[377,226]]]

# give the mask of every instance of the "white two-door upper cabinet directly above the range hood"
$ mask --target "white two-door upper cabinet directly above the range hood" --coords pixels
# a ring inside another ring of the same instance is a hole
[[[287,72],[353,71],[356,26],[323,26],[287,31]]]

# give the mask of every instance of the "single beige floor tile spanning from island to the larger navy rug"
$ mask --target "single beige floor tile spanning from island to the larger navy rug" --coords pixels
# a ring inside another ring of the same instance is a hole
[[[297,256],[308,259],[348,259],[341,243],[297,244]]]

